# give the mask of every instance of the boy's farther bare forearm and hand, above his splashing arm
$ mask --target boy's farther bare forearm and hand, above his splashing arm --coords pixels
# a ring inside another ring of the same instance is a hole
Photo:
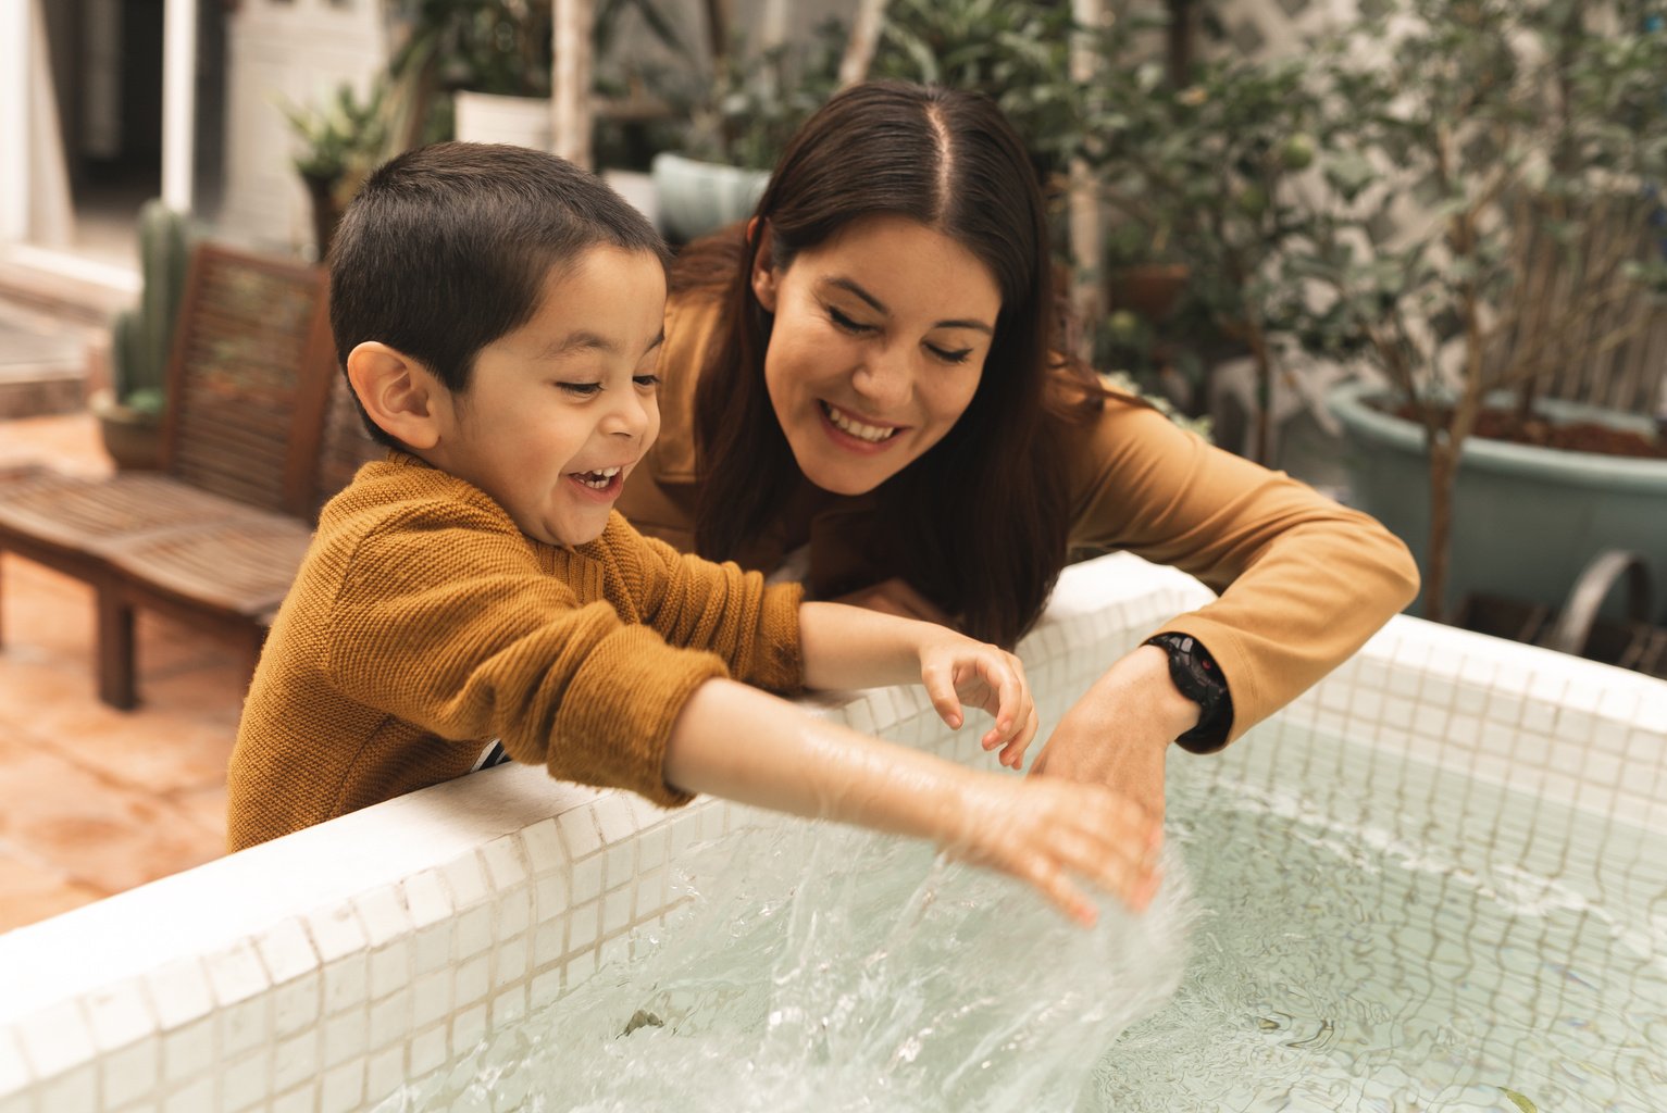
[[[922,683],[932,706],[960,728],[962,705],[995,716],[984,748],[1019,768],[1037,733],[1030,681],[1017,656],[932,621],[844,603],[802,603],[798,641],[807,688],[877,688]]]

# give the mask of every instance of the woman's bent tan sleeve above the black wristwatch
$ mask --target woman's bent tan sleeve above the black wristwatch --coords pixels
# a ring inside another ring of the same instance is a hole
[[[1407,547],[1364,513],[1112,398],[1074,483],[1072,545],[1182,568],[1220,598],[1167,623],[1220,663],[1227,741],[1297,698],[1412,601]],[[1225,745],[1225,743],[1224,743]]]

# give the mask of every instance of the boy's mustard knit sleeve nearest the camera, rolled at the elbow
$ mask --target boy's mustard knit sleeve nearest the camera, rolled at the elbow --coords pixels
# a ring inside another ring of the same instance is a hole
[[[580,605],[507,515],[457,502],[413,502],[357,545],[325,645],[350,698],[662,805],[690,798],[662,776],[672,723],[725,675],[607,601]]]

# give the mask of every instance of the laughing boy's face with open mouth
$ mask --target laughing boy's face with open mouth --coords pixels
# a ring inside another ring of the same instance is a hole
[[[665,270],[593,247],[557,275],[532,320],[480,350],[468,390],[440,400],[440,440],[423,455],[492,495],[527,537],[583,545],[660,432]]]

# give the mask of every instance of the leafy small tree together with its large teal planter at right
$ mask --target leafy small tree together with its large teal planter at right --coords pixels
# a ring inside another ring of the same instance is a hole
[[[1334,400],[1352,432],[1394,433],[1374,452],[1394,438],[1422,450],[1420,505],[1367,508],[1424,548],[1425,615],[1445,616],[1450,570],[1459,588],[1505,585],[1555,605],[1610,545],[1645,547],[1667,580],[1667,532],[1639,533],[1667,530],[1667,465],[1654,478],[1642,462],[1554,463],[1555,453],[1472,443],[1494,402],[1505,418],[1549,417],[1534,402],[1542,375],[1625,343],[1647,322],[1637,292],[1667,288],[1649,195],[1667,173],[1667,33],[1647,30],[1632,0],[1404,0],[1362,23],[1325,70],[1352,153],[1329,167],[1335,218],[1292,265],[1324,290],[1309,343],[1365,357],[1395,388],[1389,408],[1412,422],[1392,430],[1392,415],[1359,405],[1359,388]],[[1649,433],[1647,420],[1637,425]],[[1467,475],[1484,460],[1532,473],[1535,502],[1512,508],[1500,490],[1477,490],[1455,512],[1462,458]],[[1565,510],[1545,503],[1552,467],[1579,477]],[[1394,497],[1389,475],[1389,458],[1375,457],[1360,487]],[[1642,502],[1624,508],[1627,492]],[[1605,518],[1632,533],[1605,540]],[[1510,537],[1512,523],[1527,535]],[[1450,568],[1460,528],[1500,548]],[[1565,535],[1575,547],[1560,553]]]

